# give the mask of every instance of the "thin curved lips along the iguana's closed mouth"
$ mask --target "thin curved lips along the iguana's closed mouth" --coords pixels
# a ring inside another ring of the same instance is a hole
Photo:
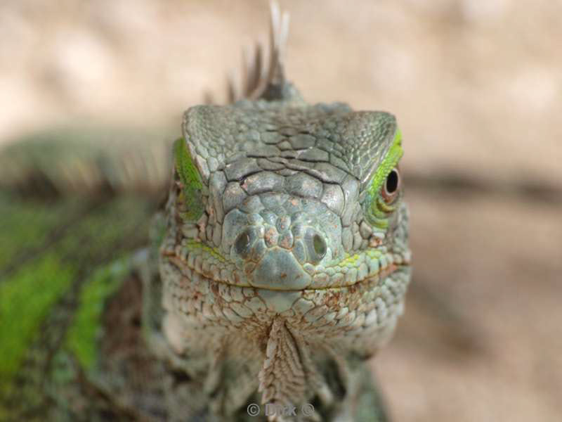
[[[190,268],[188,262],[184,260],[183,257],[178,256],[175,252],[167,252],[167,253],[164,252],[163,256],[166,257],[169,260],[169,262],[174,264],[174,266],[177,267],[185,276],[188,276],[188,278],[191,278],[193,274],[197,274],[197,276],[199,276],[200,278],[202,277],[206,281],[222,283],[227,286],[235,286],[240,288],[258,288],[260,290],[270,290],[275,292],[287,292],[287,293],[297,292],[297,291],[307,292],[307,291],[332,290],[332,289],[335,290],[353,289],[362,283],[383,281],[388,276],[398,271],[398,269],[405,269],[407,267],[410,267],[409,261],[405,261],[402,263],[391,263],[388,264],[388,266],[381,268],[379,272],[377,272],[376,274],[372,274],[362,279],[358,279],[354,283],[349,283],[349,284],[344,284],[344,283],[339,285],[326,284],[325,286],[315,286],[315,287],[306,286],[304,288],[271,288],[271,287],[263,287],[263,286],[252,286],[250,283],[230,283],[227,280],[216,279],[213,277],[213,274],[211,274],[210,271],[198,271],[196,268]]]

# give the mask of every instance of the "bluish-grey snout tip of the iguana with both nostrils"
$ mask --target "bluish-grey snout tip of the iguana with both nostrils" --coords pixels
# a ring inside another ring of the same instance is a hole
[[[339,216],[318,200],[277,192],[228,212],[221,248],[249,285],[272,290],[311,287],[316,269],[344,253]]]

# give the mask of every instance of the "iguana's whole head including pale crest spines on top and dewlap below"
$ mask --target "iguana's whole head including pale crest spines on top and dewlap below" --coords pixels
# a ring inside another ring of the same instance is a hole
[[[256,388],[263,403],[332,406],[353,390],[348,366],[390,337],[410,280],[395,118],[305,103],[281,66],[288,18],[272,16],[255,100],[184,115],[161,247],[164,334],[191,377],[221,380],[209,400],[223,414]]]

